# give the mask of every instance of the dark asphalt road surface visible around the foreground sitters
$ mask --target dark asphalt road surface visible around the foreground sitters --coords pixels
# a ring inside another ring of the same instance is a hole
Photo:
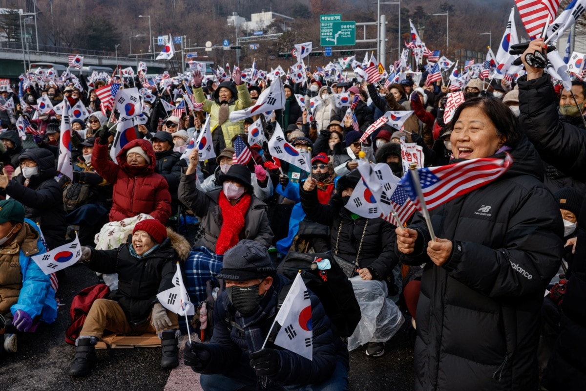
[[[42,324],[34,334],[19,335],[18,352],[6,353],[0,362],[0,389],[29,390],[200,390],[199,376],[189,368],[161,369],[159,348],[112,349],[112,355],[97,351],[97,366],[87,378],[70,378],[74,346],[66,344],[69,305],[82,288],[96,284],[97,277],[85,266],[66,270],[66,280],[57,292],[62,305],[57,321]],[[413,346],[407,317],[403,328],[386,344],[379,358],[367,357],[365,347],[350,353],[350,390],[413,390]],[[180,353],[180,358],[181,358]],[[182,359],[180,360],[182,361]],[[183,370],[182,370],[183,369]]]

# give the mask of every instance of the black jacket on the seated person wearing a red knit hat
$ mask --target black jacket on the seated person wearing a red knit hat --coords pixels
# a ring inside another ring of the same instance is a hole
[[[127,243],[114,250],[93,250],[87,266],[98,273],[118,273],[118,289],[110,293],[110,300],[120,304],[131,325],[147,320],[152,307],[158,302],[156,295],[173,287],[179,256],[167,238],[158,249],[142,259],[133,257]]]

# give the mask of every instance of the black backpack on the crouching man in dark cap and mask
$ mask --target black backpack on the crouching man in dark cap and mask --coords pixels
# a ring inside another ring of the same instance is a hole
[[[332,268],[326,270],[326,278],[322,278],[316,259],[329,259]],[[312,267],[314,264],[314,267]],[[289,251],[285,259],[277,267],[280,273],[294,280],[301,270],[301,277],[305,286],[319,297],[328,318],[334,325],[334,335],[348,337],[360,321],[360,305],[356,300],[352,283],[329,254],[298,253]]]

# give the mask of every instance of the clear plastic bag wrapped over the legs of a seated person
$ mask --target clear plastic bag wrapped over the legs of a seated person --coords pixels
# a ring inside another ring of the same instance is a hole
[[[360,276],[350,278],[362,318],[348,338],[352,351],[367,342],[386,342],[401,328],[405,319],[401,310],[387,295],[384,281],[365,281]]]

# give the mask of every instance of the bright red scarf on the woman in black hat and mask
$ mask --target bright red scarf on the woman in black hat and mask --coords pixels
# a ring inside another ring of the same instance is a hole
[[[244,194],[236,205],[232,205],[224,192],[220,192],[218,205],[222,210],[222,227],[216,242],[216,254],[224,255],[226,251],[236,246],[240,231],[244,228],[244,215],[250,206],[250,194]]]

